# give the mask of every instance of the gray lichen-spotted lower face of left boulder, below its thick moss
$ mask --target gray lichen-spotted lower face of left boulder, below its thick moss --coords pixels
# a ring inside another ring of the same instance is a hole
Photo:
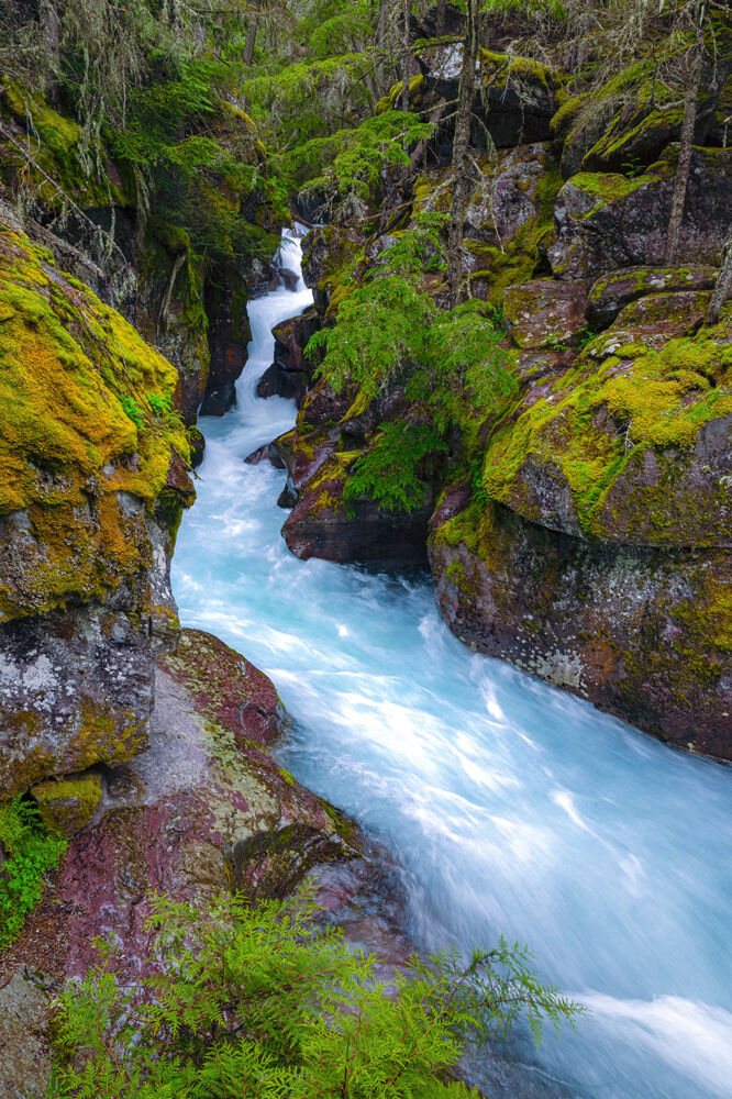
[[[146,746],[153,662],[175,644],[177,611],[169,533],[151,519],[145,526],[149,569],[103,601],[0,628],[0,799]]]

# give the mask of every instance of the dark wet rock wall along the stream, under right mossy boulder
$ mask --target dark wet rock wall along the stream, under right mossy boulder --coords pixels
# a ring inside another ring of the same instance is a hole
[[[672,744],[732,757],[729,554],[589,544],[496,504],[477,524],[439,509],[430,539],[461,641]]]

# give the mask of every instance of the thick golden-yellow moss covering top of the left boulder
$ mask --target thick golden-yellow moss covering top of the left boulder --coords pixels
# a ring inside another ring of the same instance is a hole
[[[0,580],[0,621],[101,596],[145,564],[144,523],[118,493],[152,512],[171,452],[188,460],[182,425],[151,403],[171,399],[177,380],[45,249],[0,231],[0,515],[26,512],[38,546],[22,588]]]

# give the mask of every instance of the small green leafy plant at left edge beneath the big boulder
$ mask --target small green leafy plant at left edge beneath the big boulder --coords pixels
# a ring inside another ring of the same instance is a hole
[[[0,806],[0,950],[18,937],[41,900],[45,875],[62,859],[66,841],[49,835],[35,806],[20,796]]]

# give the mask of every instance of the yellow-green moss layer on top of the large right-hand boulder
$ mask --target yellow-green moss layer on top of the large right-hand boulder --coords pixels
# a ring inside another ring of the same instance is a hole
[[[687,448],[703,424],[732,413],[732,348],[722,335],[721,330],[702,331],[672,340],[661,352],[632,345],[618,352],[628,360],[614,356],[599,366],[592,364],[590,344],[550,397],[524,412],[519,407],[493,432],[483,469],[485,491],[518,506],[523,502],[518,478],[530,457],[558,468],[583,530],[594,536],[612,485],[643,452]],[[665,529],[668,491],[668,485],[656,490]]]

